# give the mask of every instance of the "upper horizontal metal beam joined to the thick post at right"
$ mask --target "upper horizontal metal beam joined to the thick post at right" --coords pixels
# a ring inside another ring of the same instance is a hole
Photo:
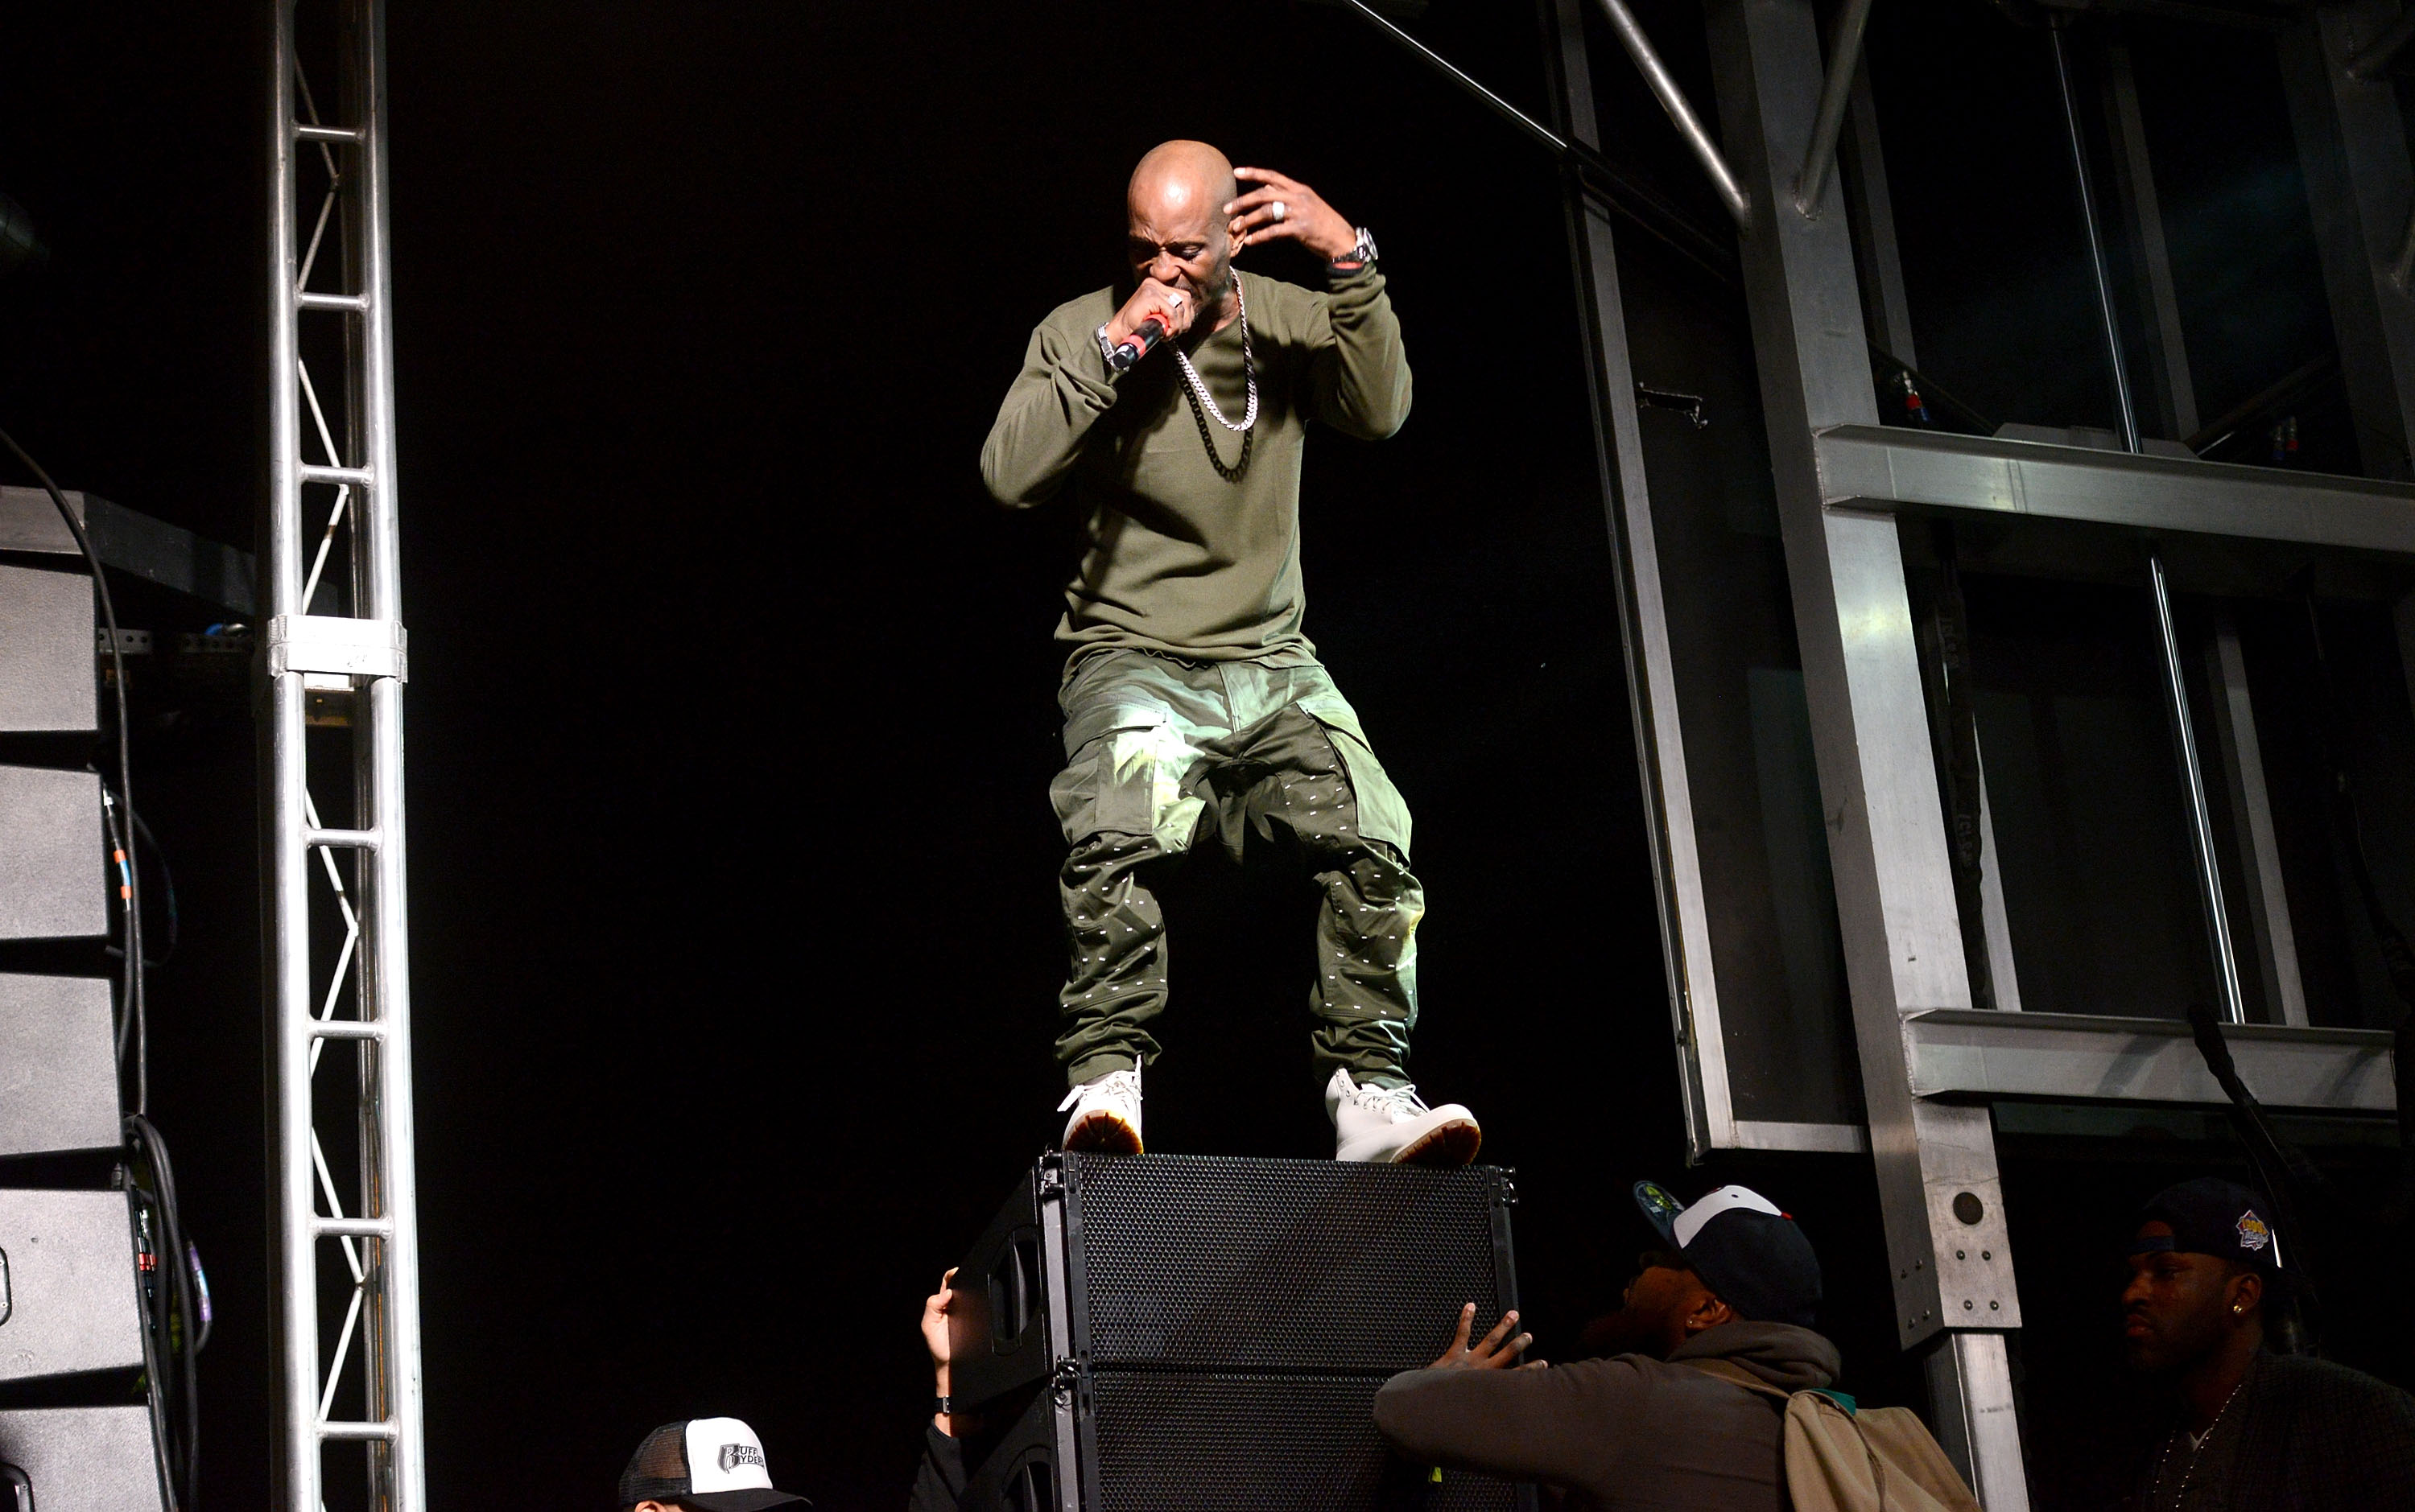
[[[2036,514],[2415,556],[2408,483],[1879,425],[1823,430],[1816,456],[1828,505]]]

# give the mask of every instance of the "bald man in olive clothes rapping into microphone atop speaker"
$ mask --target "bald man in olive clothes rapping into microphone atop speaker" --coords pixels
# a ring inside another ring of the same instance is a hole
[[[980,452],[997,502],[1070,493],[1084,519],[1048,790],[1070,845],[1065,1147],[1140,1152],[1140,1068],[1166,1005],[1152,882],[1217,845],[1292,857],[1323,891],[1309,1007],[1333,1157],[1466,1164],[1476,1118],[1408,1082],[1425,913],[1408,804],[1302,633],[1309,420],[1381,440],[1408,418],[1374,239],[1205,143],[1142,157],[1125,210],[1130,280],[1038,324]],[[1234,271],[1268,242],[1323,261],[1326,290]]]

